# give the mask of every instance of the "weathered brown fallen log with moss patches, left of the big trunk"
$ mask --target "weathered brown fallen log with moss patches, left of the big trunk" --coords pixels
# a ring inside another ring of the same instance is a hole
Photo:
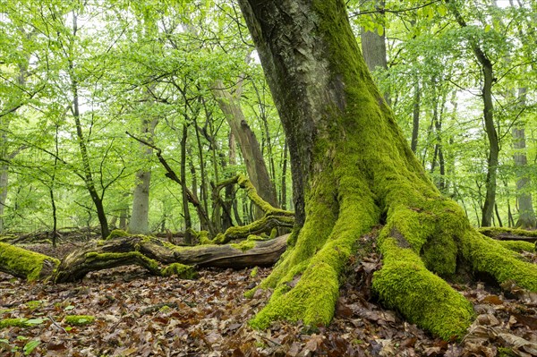
[[[56,283],[80,280],[91,271],[138,265],[160,276],[192,276],[185,266],[246,268],[274,264],[286,250],[287,237],[253,242],[250,249],[228,245],[180,247],[143,235],[113,236],[73,251],[57,267]],[[179,264],[179,265],[178,265]]]

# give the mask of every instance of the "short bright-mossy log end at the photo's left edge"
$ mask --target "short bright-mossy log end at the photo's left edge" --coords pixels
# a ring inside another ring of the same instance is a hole
[[[0,242],[0,271],[34,281],[52,276],[60,260]]]

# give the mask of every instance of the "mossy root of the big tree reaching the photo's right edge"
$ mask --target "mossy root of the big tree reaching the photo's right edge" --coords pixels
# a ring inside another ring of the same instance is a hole
[[[463,256],[478,272],[488,273],[499,284],[514,281],[516,285],[537,292],[537,265],[525,262],[514,251],[474,230],[463,236]]]

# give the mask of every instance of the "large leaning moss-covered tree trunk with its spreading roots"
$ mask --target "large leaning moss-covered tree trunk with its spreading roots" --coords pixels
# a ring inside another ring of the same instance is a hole
[[[374,290],[436,335],[463,336],[473,319],[439,277],[458,262],[537,291],[537,268],[474,231],[430,182],[371,81],[343,0],[239,3],[286,130],[300,227],[261,285],[274,293],[253,326],[328,324],[347,259],[379,224]]]

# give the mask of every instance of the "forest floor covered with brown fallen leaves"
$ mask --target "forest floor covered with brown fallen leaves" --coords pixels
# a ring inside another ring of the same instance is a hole
[[[61,257],[73,247],[27,248]],[[270,268],[202,269],[197,279],[182,280],[123,267],[59,285],[28,284],[0,273],[0,321],[29,319],[27,327],[0,329],[0,355],[537,355],[536,294],[522,292],[514,299],[482,283],[454,285],[473,302],[477,319],[462,342],[446,342],[372,302],[371,274],[377,268],[375,254],[350,265],[335,319],[315,331],[300,323],[275,323],[266,331],[248,326],[268,293],[258,291],[252,299],[243,294]],[[72,325],[65,319],[69,315],[95,319]]]

